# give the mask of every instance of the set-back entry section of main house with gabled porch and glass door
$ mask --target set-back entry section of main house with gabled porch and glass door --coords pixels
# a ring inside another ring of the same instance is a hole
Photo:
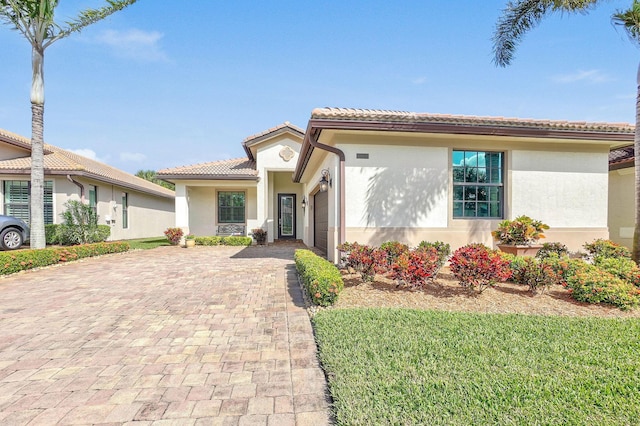
[[[289,123],[242,142],[247,157],[158,171],[176,185],[176,226],[196,235],[216,235],[220,226],[241,224],[267,231],[267,241],[302,239],[302,186],[291,176],[304,132]]]

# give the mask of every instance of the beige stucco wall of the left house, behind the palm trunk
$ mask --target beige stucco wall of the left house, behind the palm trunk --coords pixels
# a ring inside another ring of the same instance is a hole
[[[1,180],[29,180],[29,176],[0,176]],[[145,238],[162,236],[165,229],[174,226],[174,199],[149,195],[139,191],[111,185],[92,179],[74,177],[85,189],[85,201],[89,200],[89,186],[97,188],[98,223],[111,227],[110,240]],[[53,221],[61,223],[61,214],[66,210],[68,200],[80,200],[80,188],[66,177],[45,176],[53,181]],[[4,191],[4,187],[0,188]],[[122,227],[122,193],[129,199],[128,228]],[[4,213],[4,193],[2,194],[2,212]],[[111,219],[107,222],[107,219]]]

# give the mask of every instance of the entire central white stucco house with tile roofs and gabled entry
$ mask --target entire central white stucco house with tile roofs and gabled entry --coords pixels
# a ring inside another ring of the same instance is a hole
[[[498,222],[523,214],[577,250],[609,237],[608,154],[633,134],[629,124],[322,108],[304,133],[285,123],[246,139],[247,158],[158,175],[176,183],[177,226],[260,226],[269,241],[302,239],[332,261],[345,241],[492,246]]]

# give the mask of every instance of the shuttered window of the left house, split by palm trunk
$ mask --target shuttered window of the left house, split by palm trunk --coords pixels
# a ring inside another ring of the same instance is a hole
[[[28,180],[4,181],[4,213],[30,223],[31,184]],[[53,223],[53,181],[44,181],[44,223]]]

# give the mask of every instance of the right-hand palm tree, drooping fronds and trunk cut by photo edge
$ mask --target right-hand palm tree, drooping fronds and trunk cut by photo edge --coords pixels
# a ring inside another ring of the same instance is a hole
[[[513,60],[516,47],[527,31],[545,16],[555,12],[587,13],[604,0],[515,0],[510,1],[498,20],[493,36],[494,62],[506,67]],[[633,0],[627,10],[617,11],[611,17],[614,24],[624,28],[629,38],[640,45],[640,0]],[[633,260],[640,262],[640,66],[637,76],[635,186],[636,223],[633,238]]]

